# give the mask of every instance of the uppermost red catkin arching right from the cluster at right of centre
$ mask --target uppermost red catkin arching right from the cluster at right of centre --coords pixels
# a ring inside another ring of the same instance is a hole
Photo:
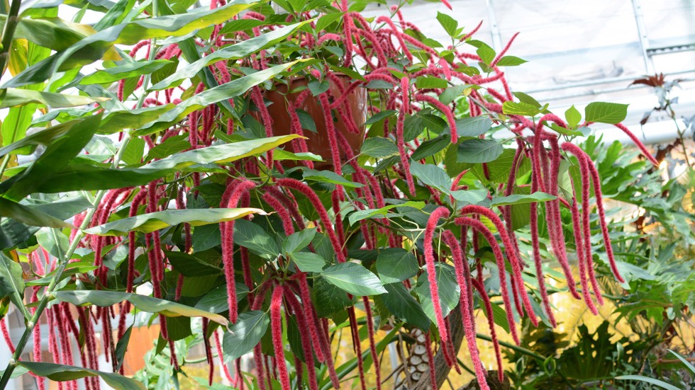
[[[461,208],[461,213],[462,214],[479,214],[487,219],[489,219],[492,224],[495,225],[495,228],[497,229],[500,238],[502,239],[502,243],[504,244],[504,251],[507,254],[507,258],[509,259],[509,263],[511,263],[511,268],[513,270],[513,273],[511,277],[514,279],[514,282],[516,284],[516,287],[518,288],[518,293],[521,295],[521,301],[523,302],[523,306],[526,309],[526,313],[528,314],[528,319],[533,323],[533,326],[538,326],[538,318],[535,316],[535,312],[533,311],[533,306],[531,306],[530,299],[528,297],[528,292],[526,289],[523,287],[523,278],[521,277],[521,258],[518,257],[517,251],[516,251],[516,246],[514,246],[513,241],[508,235],[508,230],[505,228],[504,223],[499,219],[497,214],[492,212],[492,210],[489,210],[486,207],[478,206],[478,205],[467,205]],[[474,229],[475,231],[479,231],[478,229]],[[486,235],[484,232],[479,231],[481,234]],[[488,238],[486,236],[486,238]],[[474,240],[474,243],[477,240]],[[511,309],[511,308],[508,308]],[[519,313],[519,315],[523,315],[523,313]],[[511,326],[511,324],[510,324]]]

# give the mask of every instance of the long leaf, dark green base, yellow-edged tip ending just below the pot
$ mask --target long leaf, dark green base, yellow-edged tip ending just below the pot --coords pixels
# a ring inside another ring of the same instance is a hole
[[[71,164],[59,173],[53,174],[52,180],[35,183],[39,186],[35,192],[62,193],[75,190],[108,190],[145,185],[152,180],[175,172],[204,171],[201,166],[226,164],[255,156],[296,137],[299,136],[290,134],[184,151],[139,168],[112,169],[87,164]]]

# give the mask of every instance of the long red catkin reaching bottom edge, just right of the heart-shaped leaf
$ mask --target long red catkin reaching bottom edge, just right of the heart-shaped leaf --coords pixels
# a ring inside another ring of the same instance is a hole
[[[459,308],[461,310],[466,343],[468,345],[468,351],[471,354],[471,360],[478,379],[478,384],[481,389],[489,389],[485,379],[486,371],[483,368],[482,361],[480,360],[480,353],[478,351],[478,345],[475,342],[475,320],[473,316],[473,295],[471,285],[472,278],[470,277],[468,263],[463,256],[460,243],[456,240],[456,237],[451,231],[443,231],[442,238],[447,246],[451,248],[451,257],[454,261],[456,281],[461,288],[461,294],[459,296]]]

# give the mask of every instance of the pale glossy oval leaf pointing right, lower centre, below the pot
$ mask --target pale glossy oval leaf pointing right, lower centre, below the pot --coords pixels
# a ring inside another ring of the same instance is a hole
[[[386,289],[377,275],[356,263],[338,263],[323,270],[321,277],[331,285],[353,295],[379,295]]]

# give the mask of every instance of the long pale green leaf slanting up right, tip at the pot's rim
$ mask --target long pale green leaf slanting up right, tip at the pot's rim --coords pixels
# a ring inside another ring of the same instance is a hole
[[[204,57],[204,58],[209,58]],[[283,71],[289,69],[294,64],[303,62],[305,60],[298,60],[294,62],[288,62],[287,64],[276,65],[268,69],[263,69],[262,71],[257,71],[255,73],[249,74],[248,76],[240,77],[239,79],[232,80],[228,83],[216,86],[214,88],[206,89],[196,96],[187,98],[182,103],[174,106],[171,110],[160,115],[157,120],[154,120],[146,125],[143,125],[138,130],[133,131],[135,135],[149,135],[160,130],[164,130],[174,123],[180,122],[189,113],[197,110],[201,110],[208,105],[218,103],[221,101],[228,101],[230,98],[235,96],[240,96],[246,93],[250,88],[257,86],[274,76],[281,74]],[[162,81],[163,82],[163,81]]]

